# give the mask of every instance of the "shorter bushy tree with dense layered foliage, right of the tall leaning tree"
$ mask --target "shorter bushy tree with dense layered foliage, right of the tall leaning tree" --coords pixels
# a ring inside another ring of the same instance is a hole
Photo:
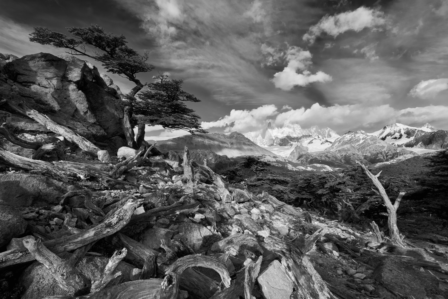
[[[183,81],[170,79],[166,74],[159,74],[154,79],[154,82],[146,84],[147,90],[141,91],[138,99],[129,101],[133,105],[133,121],[138,123],[138,146],[144,140],[146,125],[160,125],[165,129],[185,130],[191,134],[207,133],[199,123],[200,117],[183,103],[201,101],[182,90]]]

